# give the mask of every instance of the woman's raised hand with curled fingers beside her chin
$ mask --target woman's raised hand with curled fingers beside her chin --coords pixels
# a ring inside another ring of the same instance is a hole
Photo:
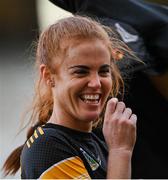
[[[108,101],[103,134],[109,151],[133,151],[136,141],[137,116],[117,98]]]

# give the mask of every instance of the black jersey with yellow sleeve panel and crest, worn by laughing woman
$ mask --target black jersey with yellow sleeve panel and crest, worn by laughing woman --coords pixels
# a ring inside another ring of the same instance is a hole
[[[23,179],[104,179],[107,148],[94,133],[48,123],[38,127],[21,154]]]

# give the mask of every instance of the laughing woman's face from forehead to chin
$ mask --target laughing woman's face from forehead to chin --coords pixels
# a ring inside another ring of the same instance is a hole
[[[59,124],[85,128],[96,120],[112,87],[110,53],[103,41],[70,41],[54,75],[54,113]]]

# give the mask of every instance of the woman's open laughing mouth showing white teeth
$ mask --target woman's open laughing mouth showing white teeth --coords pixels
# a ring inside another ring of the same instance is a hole
[[[100,101],[100,94],[83,94],[80,98],[87,104],[98,104]]]

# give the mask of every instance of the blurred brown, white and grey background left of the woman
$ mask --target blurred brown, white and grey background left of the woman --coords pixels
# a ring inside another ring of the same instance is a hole
[[[166,0],[155,1],[168,4]],[[48,0],[0,0],[0,168],[26,138],[25,130],[17,133],[21,114],[33,96],[33,42],[39,31],[65,16],[71,14]],[[20,178],[20,172],[6,178]]]

